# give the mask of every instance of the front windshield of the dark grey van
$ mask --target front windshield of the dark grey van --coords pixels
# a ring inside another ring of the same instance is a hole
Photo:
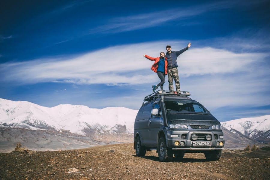
[[[207,113],[209,112],[194,101],[170,100],[164,101],[166,113]]]

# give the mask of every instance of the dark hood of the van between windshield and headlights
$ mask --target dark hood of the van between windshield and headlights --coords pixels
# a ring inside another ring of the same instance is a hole
[[[185,125],[220,125],[220,122],[211,114],[166,114],[168,124]]]

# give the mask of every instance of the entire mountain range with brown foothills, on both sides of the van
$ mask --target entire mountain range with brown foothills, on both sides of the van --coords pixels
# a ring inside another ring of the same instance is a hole
[[[0,98],[0,152],[11,151],[18,141],[33,150],[133,142],[137,112],[125,107],[95,109],[71,104],[43,107]],[[269,118],[270,115],[221,122],[225,148],[268,143]]]

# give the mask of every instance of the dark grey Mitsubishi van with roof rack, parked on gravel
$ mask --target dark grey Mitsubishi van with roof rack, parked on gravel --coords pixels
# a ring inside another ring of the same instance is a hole
[[[137,156],[156,150],[160,161],[182,159],[185,153],[204,153],[220,158],[224,146],[220,122],[188,91],[157,91],[144,98],[134,122],[134,149]],[[180,94],[181,93],[181,94]]]

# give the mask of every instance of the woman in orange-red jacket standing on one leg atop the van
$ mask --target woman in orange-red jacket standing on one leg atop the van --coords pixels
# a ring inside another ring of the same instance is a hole
[[[164,57],[165,53],[161,52],[160,57],[158,58],[152,58],[148,55],[143,55],[143,56],[151,61],[155,61],[151,69],[155,73],[158,73],[158,77],[161,80],[161,82],[158,83],[157,85],[152,85],[153,92],[155,92],[158,86],[160,86],[160,89],[163,90],[163,84],[165,83],[165,76],[167,75],[167,65],[168,65],[167,58]]]

